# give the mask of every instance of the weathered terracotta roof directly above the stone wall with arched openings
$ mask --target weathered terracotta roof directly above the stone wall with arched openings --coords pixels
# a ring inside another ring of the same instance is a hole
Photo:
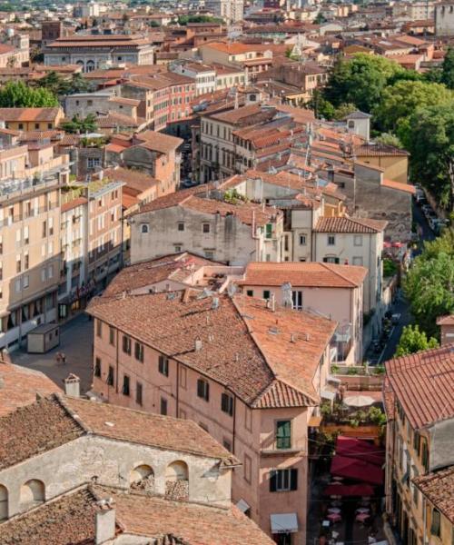
[[[88,430],[117,441],[219,458],[228,465],[233,460],[193,421],[55,394],[0,418],[0,469],[74,441]]]

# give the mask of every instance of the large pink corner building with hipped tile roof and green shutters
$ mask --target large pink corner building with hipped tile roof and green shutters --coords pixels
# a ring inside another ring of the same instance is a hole
[[[277,543],[304,544],[308,432],[336,322],[243,295],[138,287],[107,290],[89,307],[94,393],[199,423],[242,461],[238,507]]]

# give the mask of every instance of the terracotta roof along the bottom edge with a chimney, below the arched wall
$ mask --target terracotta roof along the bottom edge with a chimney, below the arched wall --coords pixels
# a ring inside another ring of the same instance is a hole
[[[171,501],[103,486],[84,485],[2,524],[0,545],[91,545],[99,500],[114,500],[116,534],[154,545],[272,545],[236,507]]]

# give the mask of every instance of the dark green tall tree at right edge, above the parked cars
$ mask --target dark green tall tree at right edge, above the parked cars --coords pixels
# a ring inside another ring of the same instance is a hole
[[[441,206],[452,209],[450,170],[454,160],[454,103],[419,108],[409,119],[402,144],[410,152],[414,179],[433,193]]]

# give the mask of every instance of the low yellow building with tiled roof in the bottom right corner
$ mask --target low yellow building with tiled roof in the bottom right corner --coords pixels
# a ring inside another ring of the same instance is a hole
[[[454,466],[414,480],[425,508],[425,543],[454,543]]]

